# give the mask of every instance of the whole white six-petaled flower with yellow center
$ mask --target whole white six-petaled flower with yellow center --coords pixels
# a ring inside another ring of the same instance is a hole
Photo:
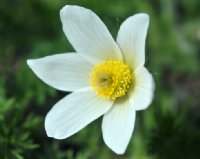
[[[63,31],[77,53],[28,60],[45,83],[72,93],[53,106],[45,119],[49,137],[65,139],[103,116],[106,145],[123,154],[133,133],[135,112],[152,101],[154,82],[144,67],[147,14],[129,17],[116,42],[99,17],[79,6],[60,11]]]

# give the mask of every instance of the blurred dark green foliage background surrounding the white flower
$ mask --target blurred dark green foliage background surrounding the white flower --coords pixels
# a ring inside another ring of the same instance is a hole
[[[150,15],[146,67],[155,98],[137,112],[122,156],[104,144],[101,118],[65,140],[45,133],[45,115],[67,93],[41,82],[26,59],[73,51],[59,17],[66,4],[96,12],[114,38],[128,16]],[[199,8],[199,0],[0,0],[0,159],[199,159]]]

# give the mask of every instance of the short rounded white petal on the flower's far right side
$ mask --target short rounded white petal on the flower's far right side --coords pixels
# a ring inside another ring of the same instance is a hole
[[[135,71],[135,83],[129,91],[129,100],[135,110],[146,109],[152,102],[154,94],[154,81],[152,75],[145,67]]]

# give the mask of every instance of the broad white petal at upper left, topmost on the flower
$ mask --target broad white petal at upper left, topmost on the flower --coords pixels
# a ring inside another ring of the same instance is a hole
[[[122,59],[120,49],[100,18],[91,10],[65,6],[60,11],[63,31],[74,49],[91,62]]]

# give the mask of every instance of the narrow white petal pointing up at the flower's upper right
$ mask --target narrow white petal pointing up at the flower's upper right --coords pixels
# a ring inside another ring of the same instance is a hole
[[[125,62],[132,69],[144,65],[148,26],[149,16],[144,13],[129,17],[120,26],[117,43],[124,55]]]

